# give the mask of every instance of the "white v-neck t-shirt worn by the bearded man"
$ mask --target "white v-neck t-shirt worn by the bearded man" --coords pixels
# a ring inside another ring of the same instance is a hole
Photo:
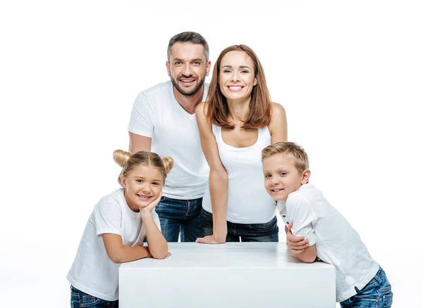
[[[204,83],[203,101],[209,85]],[[170,81],[142,91],[135,99],[128,131],[152,137],[152,152],[173,158],[163,195],[188,200],[202,198],[209,181],[209,165],[202,151],[195,114],[176,101]]]

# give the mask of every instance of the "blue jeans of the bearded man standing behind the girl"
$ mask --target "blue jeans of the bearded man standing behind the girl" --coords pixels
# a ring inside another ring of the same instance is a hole
[[[200,212],[202,198],[178,200],[162,197],[156,207],[160,219],[161,233],[167,242],[195,242],[202,238]]]

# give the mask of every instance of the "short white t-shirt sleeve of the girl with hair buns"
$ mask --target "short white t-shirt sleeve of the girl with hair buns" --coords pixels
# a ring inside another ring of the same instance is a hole
[[[122,211],[118,204],[100,202],[94,208],[95,230],[97,236],[104,233],[114,233],[122,236]]]

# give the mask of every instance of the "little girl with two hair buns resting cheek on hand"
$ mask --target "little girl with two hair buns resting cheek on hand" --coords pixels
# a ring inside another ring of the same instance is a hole
[[[123,150],[114,151],[114,160],[123,167],[118,177],[123,188],[101,198],[88,219],[67,276],[71,307],[118,307],[121,263],[171,255],[154,207],[173,160]]]

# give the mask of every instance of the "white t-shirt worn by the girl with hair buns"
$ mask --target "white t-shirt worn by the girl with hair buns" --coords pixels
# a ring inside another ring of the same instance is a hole
[[[159,217],[152,212],[160,228]],[[102,234],[114,233],[122,237],[123,245],[142,246],[145,226],[139,212],[126,203],[123,188],[105,195],[94,206],[82,235],[78,252],[66,277],[78,290],[102,300],[118,300],[118,269],[109,259]]]

